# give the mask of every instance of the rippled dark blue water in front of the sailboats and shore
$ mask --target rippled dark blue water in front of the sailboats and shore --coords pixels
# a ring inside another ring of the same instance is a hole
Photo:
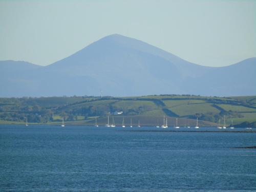
[[[0,190],[256,191],[255,133],[123,130],[1,125]]]

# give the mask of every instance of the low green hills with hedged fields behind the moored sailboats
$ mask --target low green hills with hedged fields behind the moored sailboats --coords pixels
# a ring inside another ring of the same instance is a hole
[[[115,112],[122,112],[115,115]],[[132,119],[134,125],[156,126],[168,117],[169,127],[227,126],[231,120],[235,127],[256,126],[256,96],[249,97],[202,97],[191,95],[159,95],[140,97],[40,97],[0,98],[0,124],[29,123],[59,124],[62,117],[66,124],[93,125],[95,117],[100,125],[108,122],[108,114],[114,115],[116,125]]]

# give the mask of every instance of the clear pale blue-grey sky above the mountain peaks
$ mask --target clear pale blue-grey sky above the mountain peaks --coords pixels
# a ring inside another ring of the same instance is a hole
[[[0,60],[46,66],[111,34],[203,66],[256,57],[256,1],[3,1]]]

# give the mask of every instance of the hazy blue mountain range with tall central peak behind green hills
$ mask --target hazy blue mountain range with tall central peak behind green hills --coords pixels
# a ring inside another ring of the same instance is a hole
[[[256,58],[204,67],[145,42],[106,36],[49,66],[0,61],[0,97],[256,95]]]

